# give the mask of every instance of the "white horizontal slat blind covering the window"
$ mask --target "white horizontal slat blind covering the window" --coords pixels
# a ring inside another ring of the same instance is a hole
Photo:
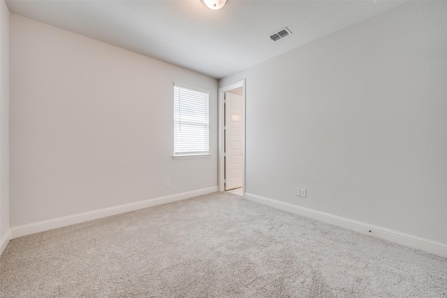
[[[209,153],[209,93],[174,84],[174,155]]]

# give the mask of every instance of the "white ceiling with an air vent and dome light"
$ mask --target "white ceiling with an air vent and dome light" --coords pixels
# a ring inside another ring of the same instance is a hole
[[[210,10],[200,0],[6,1],[23,15],[98,41],[223,78],[298,48],[403,1],[228,0]],[[288,27],[275,43],[268,36]]]

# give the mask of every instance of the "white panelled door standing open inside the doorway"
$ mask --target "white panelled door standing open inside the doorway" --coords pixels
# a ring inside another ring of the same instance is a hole
[[[242,96],[225,92],[225,190],[242,187]]]

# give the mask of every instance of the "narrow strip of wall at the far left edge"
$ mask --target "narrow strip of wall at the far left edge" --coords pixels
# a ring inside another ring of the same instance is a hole
[[[9,10],[0,1],[0,255],[9,241]]]

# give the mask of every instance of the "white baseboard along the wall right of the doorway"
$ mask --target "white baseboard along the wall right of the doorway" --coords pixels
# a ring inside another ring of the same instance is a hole
[[[344,227],[345,229],[351,229],[353,231],[360,232],[362,234],[370,234],[370,235],[372,234],[373,236],[379,237],[381,239],[386,239],[391,242],[399,243],[402,244],[403,246],[409,246],[411,248],[425,250],[428,253],[432,253],[434,255],[447,257],[446,243],[440,243],[429,239],[420,238],[418,236],[393,231],[392,229],[386,229],[384,227],[369,225],[365,222],[358,222],[356,220],[350,220],[349,218],[342,218],[337,215],[332,215],[329,213],[324,213],[309,208],[288,204],[283,201],[277,201],[275,199],[261,197],[256,194],[249,194],[246,192],[245,198],[251,201],[256,201],[264,205],[281,209],[283,211],[288,211],[290,213],[302,215],[307,218],[313,218],[321,222],[327,222],[331,225]]]

